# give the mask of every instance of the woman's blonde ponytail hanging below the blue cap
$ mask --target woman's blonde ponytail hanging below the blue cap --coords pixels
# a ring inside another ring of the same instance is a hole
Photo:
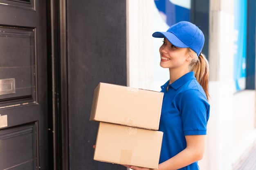
[[[196,80],[204,89],[204,93],[206,94],[207,99],[209,99],[209,63],[205,58],[204,54],[202,53],[197,56],[197,54],[190,48],[188,48],[188,53],[192,57],[191,63],[189,65],[189,70],[195,73]]]

